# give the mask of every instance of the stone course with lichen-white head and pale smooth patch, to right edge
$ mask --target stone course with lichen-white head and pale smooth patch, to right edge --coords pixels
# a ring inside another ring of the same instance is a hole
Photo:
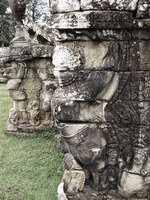
[[[62,49],[64,49],[64,56],[65,51],[72,52],[75,56],[78,54],[82,59],[82,68],[87,70],[148,71],[150,70],[150,40],[139,39],[65,42],[58,44],[54,52],[57,59]],[[70,66],[67,59],[66,65]]]

